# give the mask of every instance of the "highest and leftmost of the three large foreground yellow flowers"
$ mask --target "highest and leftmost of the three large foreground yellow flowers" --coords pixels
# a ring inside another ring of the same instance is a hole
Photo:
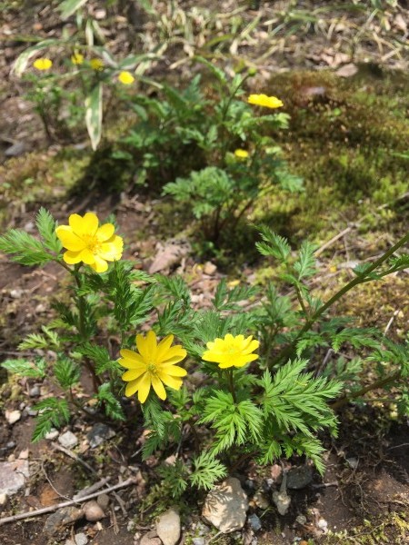
[[[84,217],[72,213],[69,225],[59,225],[55,229],[67,252],[63,255],[65,263],[86,263],[95,272],[105,272],[108,263],[121,259],[124,242],[114,234],[115,226],[105,223],[99,227],[95,213],[87,212]]]

